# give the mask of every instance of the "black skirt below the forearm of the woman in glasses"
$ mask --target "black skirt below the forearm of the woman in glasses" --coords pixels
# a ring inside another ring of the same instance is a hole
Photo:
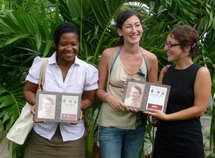
[[[153,158],[204,158],[200,122],[195,119],[160,121]]]

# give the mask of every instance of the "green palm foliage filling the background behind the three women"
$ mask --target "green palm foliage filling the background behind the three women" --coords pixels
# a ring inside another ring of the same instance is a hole
[[[159,67],[167,64],[163,46],[169,31],[177,25],[195,27],[202,49],[195,62],[209,68],[215,83],[215,2],[213,0],[9,0],[0,2],[0,119],[4,136],[24,105],[24,79],[35,56],[53,53],[53,31],[63,22],[80,28],[78,56],[98,66],[101,52],[118,40],[114,19],[124,9],[137,10],[143,18],[141,46],[155,53]],[[21,16],[20,16],[21,15]],[[214,86],[212,94],[214,94]],[[85,112],[89,125],[87,157],[92,157],[93,135],[99,101]],[[211,147],[215,145],[215,111]],[[215,153],[215,151],[213,150]],[[14,154],[15,155],[15,154]],[[15,157],[15,156],[14,156]],[[18,156],[17,156],[18,157]],[[22,157],[22,156],[21,156]]]

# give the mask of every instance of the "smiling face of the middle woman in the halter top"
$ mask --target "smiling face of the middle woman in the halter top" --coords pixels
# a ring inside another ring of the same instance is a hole
[[[123,23],[121,29],[117,29],[117,32],[119,36],[123,36],[124,43],[139,44],[143,33],[140,19],[136,15],[131,16]]]

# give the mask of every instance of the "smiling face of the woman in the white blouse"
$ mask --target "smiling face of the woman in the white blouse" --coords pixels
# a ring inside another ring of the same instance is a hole
[[[58,62],[73,64],[79,51],[79,40],[76,33],[68,32],[61,35],[58,43]]]

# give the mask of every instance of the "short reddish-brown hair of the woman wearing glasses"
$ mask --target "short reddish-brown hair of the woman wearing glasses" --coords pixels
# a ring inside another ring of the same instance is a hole
[[[178,40],[183,50],[185,47],[191,46],[190,57],[193,58],[197,54],[199,50],[199,34],[194,28],[188,25],[178,26],[169,35]]]

